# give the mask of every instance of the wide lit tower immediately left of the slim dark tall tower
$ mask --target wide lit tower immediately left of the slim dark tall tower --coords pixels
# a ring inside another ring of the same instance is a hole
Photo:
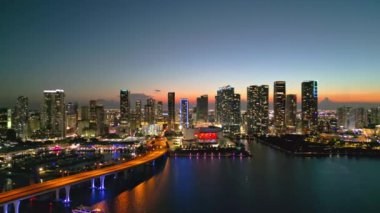
[[[266,135],[269,126],[269,86],[247,88],[247,134]]]

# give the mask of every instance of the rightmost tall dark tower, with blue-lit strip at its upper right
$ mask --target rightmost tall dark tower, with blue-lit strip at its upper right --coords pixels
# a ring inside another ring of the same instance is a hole
[[[302,130],[315,134],[318,130],[318,82],[302,82]]]

